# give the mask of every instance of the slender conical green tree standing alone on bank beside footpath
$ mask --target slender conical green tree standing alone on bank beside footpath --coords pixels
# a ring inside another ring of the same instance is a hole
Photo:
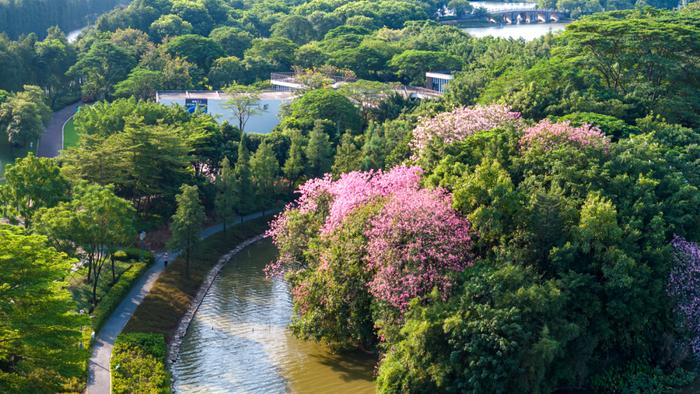
[[[176,197],[177,210],[170,225],[172,238],[169,245],[185,253],[185,276],[189,279],[192,251],[200,240],[199,233],[206,216],[197,186],[182,185],[180,191]]]

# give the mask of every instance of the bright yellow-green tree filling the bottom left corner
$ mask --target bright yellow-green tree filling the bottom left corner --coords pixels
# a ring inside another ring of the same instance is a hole
[[[46,238],[0,225],[0,391],[48,393],[82,379],[87,354],[67,290],[76,261],[49,247]]]

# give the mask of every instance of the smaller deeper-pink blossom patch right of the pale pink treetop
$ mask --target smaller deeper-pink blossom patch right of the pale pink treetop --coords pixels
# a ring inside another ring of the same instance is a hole
[[[551,150],[566,143],[607,150],[610,139],[599,128],[588,124],[574,127],[568,121],[552,123],[549,119],[528,128],[520,137],[520,145],[525,148],[538,145]]]

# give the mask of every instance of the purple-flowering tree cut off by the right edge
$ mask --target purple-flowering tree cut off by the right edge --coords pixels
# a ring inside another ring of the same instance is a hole
[[[668,278],[668,293],[690,332],[693,353],[700,357],[700,246],[680,237],[671,245],[674,266]]]

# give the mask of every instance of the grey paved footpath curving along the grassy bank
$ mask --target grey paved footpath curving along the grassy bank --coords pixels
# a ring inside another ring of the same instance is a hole
[[[270,211],[269,213],[271,213]],[[232,226],[235,223],[247,222],[253,219],[262,217],[262,212],[253,213],[244,216],[238,222],[232,221]],[[216,233],[223,231],[223,225],[218,224],[208,227],[200,233],[200,238],[204,239]],[[167,252],[168,260],[173,261],[177,257],[178,252]],[[117,336],[122,332],[126,323],[129,322],[131,316],[136,311],[136,308],[143,302],[148,292],[153,287],[153,284],[158,280],[161,272],[165,269],[163,260],[166,253],[156,255],[156,261],[134,284],[134,287],[129,291],[129,294],[124,297],[117,309],[112,312],[107,322],[95,337],[95,344],[90,356],[90,365],[88,370],[88,393],[89,394],[110,394],[112,380],[110,376],[109,363],[112,358],[112,347]]]

